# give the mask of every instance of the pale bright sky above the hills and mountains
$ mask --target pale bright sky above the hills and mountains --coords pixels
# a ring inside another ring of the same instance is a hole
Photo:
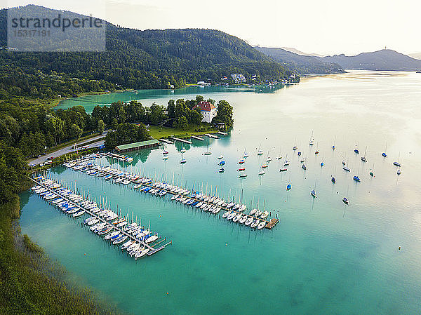
[[[356,55],[421,52],[420,0],[0,0],[94,15],[135,29],[208,28],[250,45]]]

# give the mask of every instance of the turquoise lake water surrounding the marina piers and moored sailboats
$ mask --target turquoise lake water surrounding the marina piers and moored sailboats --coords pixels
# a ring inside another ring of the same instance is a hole
[[[187,187],[212,187],[220,196],[259,201],[260,208],[265,204],[271,217],[280,219],[272,231],[255,231],[222,220],[222,213],[209,215],[58,167],[51,171],[55,179],[89,189],[97,199],[106,196],[113,208],[129,209],[142,224],[150,221],[173,245],[135,262],[30,192],[22,194],[22,233],[81,285],[133,314],[418,314],[420,87],[419,74],[351,72],[304,79],[276,93],[201,93],[233,105],[229,136],[194,140],[185,146],[184,166],[181,145],[166,145],[168,161],[160,149],[130,154],[134,161],[128,170]],[[147,97],[145,104],[173,98]],[[315,144],[309,147],[312,131]],[[294,144],[307,159],[306,171]],[[211,156],[203,156],[207,145]],[[260,158],[259,146],[265,152]],[[245,147],[248,177],[240,180],[237,162]],[[280,173],[281,162],[273,159],[259,178],[268,151],[272,158],[288,154],[291,163]],[[227,161],[223,174],[217,173],[219,154]],[[398,177],[392,162],[399,156]],[[343,159],[350,173],[342,170]],[[368,175],[373,164],[374,178]],[[354,182],[354,175],[361,182]],[[341,201],[345,195],[349,206]]]

